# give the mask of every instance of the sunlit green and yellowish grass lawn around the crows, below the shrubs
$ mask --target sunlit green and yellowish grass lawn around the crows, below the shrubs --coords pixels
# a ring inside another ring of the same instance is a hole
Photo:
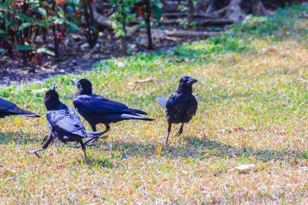
[[[110,59],[83,74],[0,91],[43,116],[0,119],[0,201],[307,204],[308,19],[301,17],[307,10],[278,10],[169,52]],[[199,108],[180,137],[174,137],[180,125],[172,127],[165,146],[165,113],[155,97],[169,97],[185,74],[199,80]],[[86,160],[81,149],[57,139],[40,153],[43,159],[27,154],[49,133],[40,89],[55,83],[62,102],[72,106],[76,88],[69,79],[84,77],[95,94],[157,120],[111,124]],[[145,78],[156,80],[134,83]],[[230,170],[243,163],[255,167]]]

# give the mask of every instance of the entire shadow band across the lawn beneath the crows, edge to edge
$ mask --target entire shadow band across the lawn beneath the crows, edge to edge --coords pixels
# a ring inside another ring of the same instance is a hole
[[[36,135],[37,136],[37,135]],[[42,140],[38,138],[31,138],[31,134],[14,132],[14,133],[2,133],[0,132],[0,145],[14,144],[13,147],[23,148],[23,145],[31,144],[35,145],[39,149],[43,145],[43,138],[45,135],[42,134]],[[97,153],[107,153],[99,154],[98,156],[92,156],[88,154],[86,160],[83,157],[80,159],[80,162],[83,160],[86,165],[90,167],[101,166],[108,169],[122,169],[127,165],[127,163],[132,158],[140,158],[141,163],[146,162],[147,160],[152,159],[168,159],[168,160],[201,160],[207,161],[209,157],[218,157],[218,159],[232,159],[237,158],[240,161],[249,161],[249,158],[254,157],[257,160],[263,162],[268,162],[271,160],[300,160],[307,159],[308,153],[296,152],[283,149],[281,151],[273,151],[269,149],[258,150],[254,148],[246,147],[244,149],[234,148],[229,145],[222,144],[221,142],[208,139],[200,138],[189,135],[182,135],[177,139],[172,139],[169,141],[169,144],[165,146],[162,145],[162,151],[160,155],[157,153],[157,147],[159,145],[156,140],[147,140],[143,142],[134,142],[129,140],[126,142],[120,142],[119,145],[115,145],[114,142],[107,142],[100,140],[96,142],[96,146],[87,147],[88,150],[93,150],[95,155]],[[64,146],[64,149],[71,149],[75,151],[74,143],[64,145],[59,140],[55,139],[50,146],[60,147]],[[4,150],[5,152],[5,150]],[[48,153],[48,149],[41,153],[43,159],[44,155]],[[89,152],[88,152],[89,153]],[[82,154],[83,156],[83,154]],[[33,156],[35,157],[35,156]],[[62,156],[62,157],[65,157]]]

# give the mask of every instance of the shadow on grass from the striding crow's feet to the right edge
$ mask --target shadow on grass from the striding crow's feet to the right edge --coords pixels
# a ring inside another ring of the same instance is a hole
[[[238,158],[240,161],[249,161],[250,157],[263,162],[271,160],[290,160],[290,159],[307,159],[307,153],[300,153],[290,150],[258,150],[246,147],[245,150],[233,148],[229,145],[222,144],[214,139],[196,138],[192,136],[182,136],[172,144],[162,146],[160,155],[157,153],[158,143],[140,144],[133,141],[125,144],[114,145],[108,149],[106,142],[97,142],[99,145],[88,147],[95,151],[108,152],[108,156],[98,158],[88,158],[86,160],[89,166],[103,166],[105,168],[123,168],[131,158],[142,158],[142,161],[153,159],[153,157],[171,160],[208,160],[209,157],[218,157],[228,160]],[[109,142],[110,145],[110,142]],[[109,146],[110,147],[110,146]]]

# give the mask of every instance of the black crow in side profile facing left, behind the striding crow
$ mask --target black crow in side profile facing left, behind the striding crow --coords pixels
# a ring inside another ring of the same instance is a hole
[[[73,104],[81,116],[89,122],[93,131],[97,131],[96,125],[98,124],[104,124],[106,126],[106,130],[104,131],[106,133],[110,130],[109,124],[111,122],[115,123],[128,119],[154,120],[139,116],[138,114],[147,115],[147,113],[141,110],[130,109],[117,101],[92,94],[92,84],[87,79],[71,79],[70,81],[78,88],[78,92],[73,98]],[[96,139],[88,139],[84,144],[86,145],[88,142]]]

